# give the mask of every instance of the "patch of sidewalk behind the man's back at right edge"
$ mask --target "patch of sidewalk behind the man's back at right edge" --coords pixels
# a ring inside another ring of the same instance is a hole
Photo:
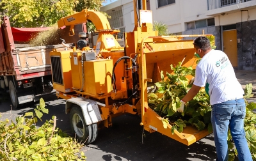
[[[247,100],[256,103],[256,71],[235,70],[235,73],[243,89],[245,89],[246,84],[252,83],[254,96]]]

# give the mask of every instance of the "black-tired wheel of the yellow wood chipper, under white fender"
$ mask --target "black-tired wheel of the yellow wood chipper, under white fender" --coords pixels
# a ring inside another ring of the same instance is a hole
[[[82,141],[84,144],[90,144],[95,141],[98,134],[97,123],[86,125],[83,112],[77,105],[73,105],[70,111],[70,123],[72,134],[76,133],[78,141]]]

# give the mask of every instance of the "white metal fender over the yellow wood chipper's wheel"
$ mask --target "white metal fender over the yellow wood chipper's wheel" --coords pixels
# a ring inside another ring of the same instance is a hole
[[[68,109],[70,109],[74,104],[81,107],[86,125],[92,125],[93,123],[102,121],[97,102],[81,96],[70,98],[66,102],[66,114],[68,113]]]

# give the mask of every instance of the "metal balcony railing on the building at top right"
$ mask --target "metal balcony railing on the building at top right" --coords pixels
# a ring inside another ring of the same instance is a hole
[[[252,0],[208,0],[208,10],[234,5],[237,3],[244,3]]]

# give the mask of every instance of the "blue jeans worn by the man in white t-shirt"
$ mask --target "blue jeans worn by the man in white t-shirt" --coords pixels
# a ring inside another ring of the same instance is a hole
[[[239,161],[252,160],[244,132],[245,107],[243,98],[212,105],[211,122],[217,153],[216,160],[228,160],[228,128],[235,142]]]

